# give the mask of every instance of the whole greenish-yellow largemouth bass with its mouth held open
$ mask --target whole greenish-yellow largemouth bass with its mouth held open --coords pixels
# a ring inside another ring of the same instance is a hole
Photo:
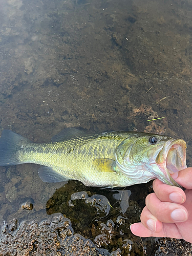
[[[186,168],[186,142],[141,132],[87,133],[67,128],[51,142],[33,143],[9,130],[0,138],[0,165],[35,163],[44,182],[79,180],[86,186],[125,187],[158,178],[181,187],[172,174]]]

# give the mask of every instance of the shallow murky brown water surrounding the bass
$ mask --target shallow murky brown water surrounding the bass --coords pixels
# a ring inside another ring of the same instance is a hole
[[[74,126],[165,134],[186,140],[192,166],[191,13],[190,0],[1,0],[1,131],[34,142]],[[165,118],[147,122],[159,117]],[[152,183],[120,190],[48,184],[38,167],[1,167],[2,224],[39,223],[61,212],[74,233],[110,253],[157,253],[155,239],[129,229]],[[72,206],[74,193],[80,194]]]

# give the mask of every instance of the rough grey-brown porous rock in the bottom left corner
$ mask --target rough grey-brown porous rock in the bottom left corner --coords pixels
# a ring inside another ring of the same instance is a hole
[[[54,214],[40,223],[17,221],[4,223],[1,233],[0,256],[106,256],[110,253],[98,249],[90,239],[73,234],[71,221]]]

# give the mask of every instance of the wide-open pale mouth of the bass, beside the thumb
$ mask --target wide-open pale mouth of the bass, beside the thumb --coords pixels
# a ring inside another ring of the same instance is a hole
[[[186,168],[186,142],[181,139],[168,140],[156,157],[156,164],[165,175],[164,182],[170,185],[179,186],[172,174]]]

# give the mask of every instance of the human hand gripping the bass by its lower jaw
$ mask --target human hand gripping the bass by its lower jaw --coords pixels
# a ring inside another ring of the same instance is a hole
[[[177,174],[172,177],[186,190],[154,180],[155,193],[146,197],[141,223],[130,227],[136,236],[180,238],[192,243],[192,168]]]

